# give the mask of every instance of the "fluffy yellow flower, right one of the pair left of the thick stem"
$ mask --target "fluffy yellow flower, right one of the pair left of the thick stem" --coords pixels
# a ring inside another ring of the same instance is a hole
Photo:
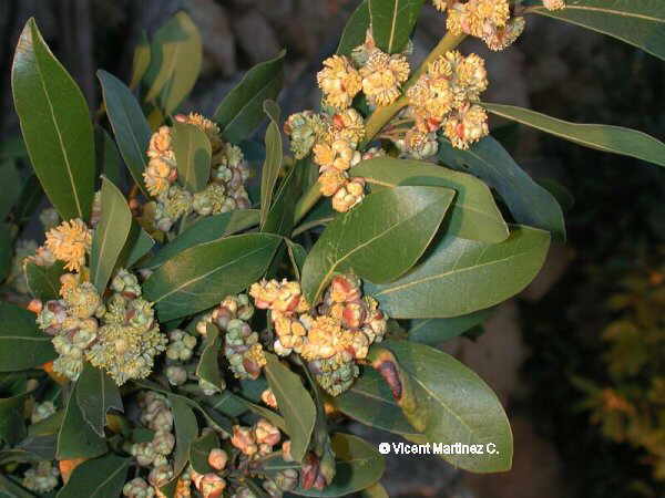
[[[377,49],[360,70],[362,92],[372,105],[390,105],[399,97],[401,84],[409,79],[410,71],[407,58],[388,55]]]

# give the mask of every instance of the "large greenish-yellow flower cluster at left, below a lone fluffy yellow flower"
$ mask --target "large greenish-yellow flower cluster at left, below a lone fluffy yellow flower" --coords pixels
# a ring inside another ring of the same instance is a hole
[[[86,271],[61,277],[61,299],[35,302],[37,323],[53,336],[59,357],[53,370],[68,378],[79,377],[83,361],[105,370],[117,385],[146,377],[154,357],[164,351],[152,303],[141,298],[135,276],[120,269],[111,283],[112,295],[103,302]]]

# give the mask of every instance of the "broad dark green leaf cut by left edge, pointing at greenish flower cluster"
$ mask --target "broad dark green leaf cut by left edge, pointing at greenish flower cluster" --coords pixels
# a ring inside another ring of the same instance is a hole
[[[34,318],[28,310],[0,302],[0,372],[34,369],[58,357],[51,338],[38,329]]]

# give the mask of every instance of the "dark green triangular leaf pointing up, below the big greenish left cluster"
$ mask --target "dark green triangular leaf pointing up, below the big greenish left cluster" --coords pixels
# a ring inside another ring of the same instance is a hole
[[[76,402],[76,388],[71,390],[62,426],[58,432],[59,460],[72,458],[94,458],[106,453],[106,440],[99,436],[83,418]]]

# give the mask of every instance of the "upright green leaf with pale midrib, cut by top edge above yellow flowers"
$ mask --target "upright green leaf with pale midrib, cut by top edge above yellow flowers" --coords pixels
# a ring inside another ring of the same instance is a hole
[[[379,49],[398,53],[409,43],[424,0],[369,0],[371,31]]]

